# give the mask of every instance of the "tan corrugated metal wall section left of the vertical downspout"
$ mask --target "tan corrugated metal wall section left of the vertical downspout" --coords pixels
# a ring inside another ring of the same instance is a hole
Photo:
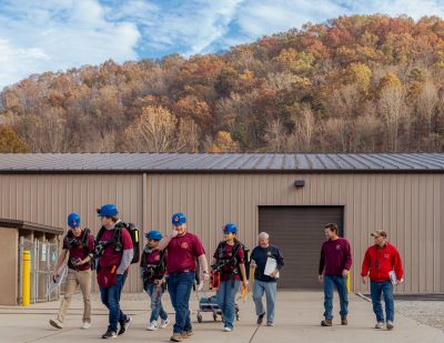
[[[0,175],[0,218],[67,228],[67,214],[78,212],[82,225],[95,234],[95,209],[117,203],[124,220],[142,225],[141,175]],[[125,290],[134,292],[139,283],[132,272]]]

